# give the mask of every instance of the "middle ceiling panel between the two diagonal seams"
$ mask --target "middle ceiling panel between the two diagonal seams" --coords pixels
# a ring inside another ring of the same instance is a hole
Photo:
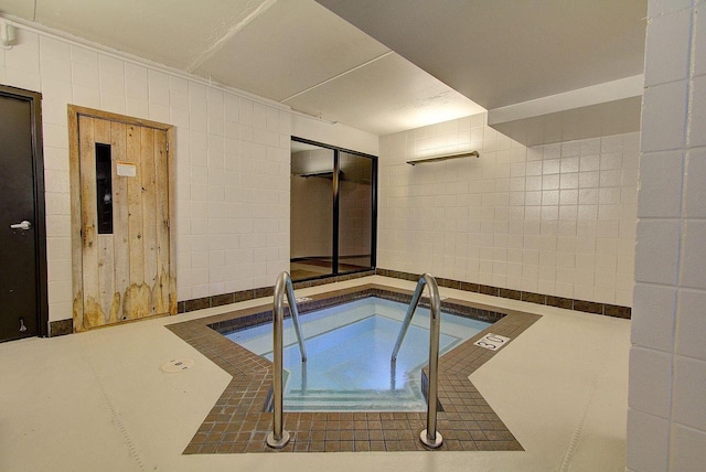
[[[313,1],[278,1],[194,72],[282,100],[387,51]]]

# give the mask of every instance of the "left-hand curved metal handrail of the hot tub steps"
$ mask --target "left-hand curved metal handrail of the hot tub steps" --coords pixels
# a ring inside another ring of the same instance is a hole
[[[267,435],[267,446],[275,449],[281,449],[289,442],[289,432],[282,429],[282,320],[285,318],[285,294],[289,302],[289,311],[291,312],[291,321],[297,333],[299,342],[299,352],[301,353],[301,362],[307,362],[307,350],[304,347],[303,337],[301,335],[301,326],[299,324],[299,310],[297,309],[297,299],[295,298],[295,289],[291,285],[289,273],[281,272],[277,277],[275,283],[275,300],[272,302],[272,354],[274,354],[274,379],[272,379],[272,431]]]

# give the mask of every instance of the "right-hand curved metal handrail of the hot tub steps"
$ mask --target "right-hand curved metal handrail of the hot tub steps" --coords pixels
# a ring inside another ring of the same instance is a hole
[[[425,285],[429,287],[429,307],[431,312],[429,317],[429,385],[427,388],[427,429],[419,433],[419,440],[421,440],[421,442],[426,447],[436,449],[443,443],[441,433],[437,431],[437,398],[439,395],[439,331],[441,326],[441,302],[439,298],[439,286],[437,285],[436,279],[430,273],[422,275],[417,282],[417,288],[415,289],[415,293],[411,297],[411,302],[409,303],[409,308],[407,309],[407,314],[405,315],[402,329],[399,330],[399,335],[397,336],[397,342],[395,343],[395,348],[393,350],[391,363],[394,367],[395,363],[397,362],[399,347],[402,347],[402,342],[404,341],[405,334],[407,334],[407,330],[409,329],[409,324],[411,323],[411,317],[415,314],[415,310],[419,304],[419,299],[421,298],[421,292],[424,291]]]

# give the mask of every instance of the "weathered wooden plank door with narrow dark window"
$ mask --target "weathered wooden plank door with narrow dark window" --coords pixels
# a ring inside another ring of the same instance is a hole
[[[76,119],[75,329],[174,314],[169,129],[81,111]]]

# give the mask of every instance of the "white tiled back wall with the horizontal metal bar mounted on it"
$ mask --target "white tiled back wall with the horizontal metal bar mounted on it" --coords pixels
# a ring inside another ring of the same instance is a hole
[[[628,133],[527,149],[485,115],[383,137],[378,266],[631,305],[638,147]],[[464,150],[481,157],[405,163]]]

